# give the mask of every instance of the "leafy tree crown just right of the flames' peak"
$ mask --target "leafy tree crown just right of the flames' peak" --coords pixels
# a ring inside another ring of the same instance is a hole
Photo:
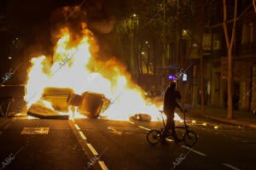
[[[160,3],[153,0],[126,1],[125,6],[128,8],[126,9],[128,12],[122,20],[117,21],[115,27],[119,49],[125,55],[124,60],[130,70],[137,70],[137,73],[142,73],[142,63],[148,68],[151,60],[158,60],[155,56],[159,56],[159,51],[161,51],[158,44],[162,42],[163,24],[161,15],[157,14],[160,11]],[[154,50],[147,48],[149,44],[150,48],[154,48]],[[141,53],[145,48],[148,50],[148,57],[143,59]],[[152,51],[154,58],[149,57]],[[155,68],[156,62],[153,64]]]

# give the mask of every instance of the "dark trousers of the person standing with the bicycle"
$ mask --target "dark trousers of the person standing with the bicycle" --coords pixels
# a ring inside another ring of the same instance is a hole
[[[175,131],[175,122],[173,120],[173,118],[174,118],[174,111],[173,111],[173,114],[172,113],[168,114],[168,115],[167,114],[166,114],[166,116],[167,116],[166,127],[165,127],[165,130],[164,130],[163,136],[162,136],[162,140],[166,139],[170,129],[172,130],[172,137],[173,137],[173,139],[177,140],[177,133]]]

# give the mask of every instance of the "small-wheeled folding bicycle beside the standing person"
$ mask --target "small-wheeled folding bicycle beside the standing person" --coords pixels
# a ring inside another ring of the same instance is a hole
[[[175,128],[185,129],[185,132],[183,133],[183,143],[189,147],[192,147],[197,142],[197,134],[194,131],[189,130],[189,125],[186,124],[186,112],[187,112],[187,110],[183,111],[184,125],[183,126],[175,126]],[[166,127],[166,123],[165,123],[164,117],[162,115],[164,113],[164,111],[160,111],[160,113],[162,116],[162,121],[163,121],[164,127]],[[162,135],[164,133],[164,129],[165,128],[149,130],[147,133],[148,143],[152,144],[152,145],[159,144],[160,139],[162,138]],[[167,139],[173,139],[171,129],[168,132]]]

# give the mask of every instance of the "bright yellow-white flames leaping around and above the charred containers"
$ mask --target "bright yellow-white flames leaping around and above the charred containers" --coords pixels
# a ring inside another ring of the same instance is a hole
[[[61,30],[53,57],[40,56],[31,60],[26,84],[27,108],[41,98],[44,88],[72,88],[75,94],[86,91],[104,94],[112,103],[102,116],[112,120],[128,120],[136,113],[147,113],[157,120],[161,106],[148,105],[143,89],[131,81],[125,66],[112,58],[100,61],[93,34],[84,29],[84,36],[71,40],[67,28]],[[52,108],[51,105],[44,106]],[[69,107],[70,116],[79,117],[77,107]],[[175,115],[175,120],[180,118]]]

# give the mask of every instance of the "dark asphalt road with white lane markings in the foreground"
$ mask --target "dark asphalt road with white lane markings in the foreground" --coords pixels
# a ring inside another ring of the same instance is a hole
[[[189,125],[199,136],[193,148],[148,144],[160,122],[0,118],[0,169],[255,169],[256,129]]]

